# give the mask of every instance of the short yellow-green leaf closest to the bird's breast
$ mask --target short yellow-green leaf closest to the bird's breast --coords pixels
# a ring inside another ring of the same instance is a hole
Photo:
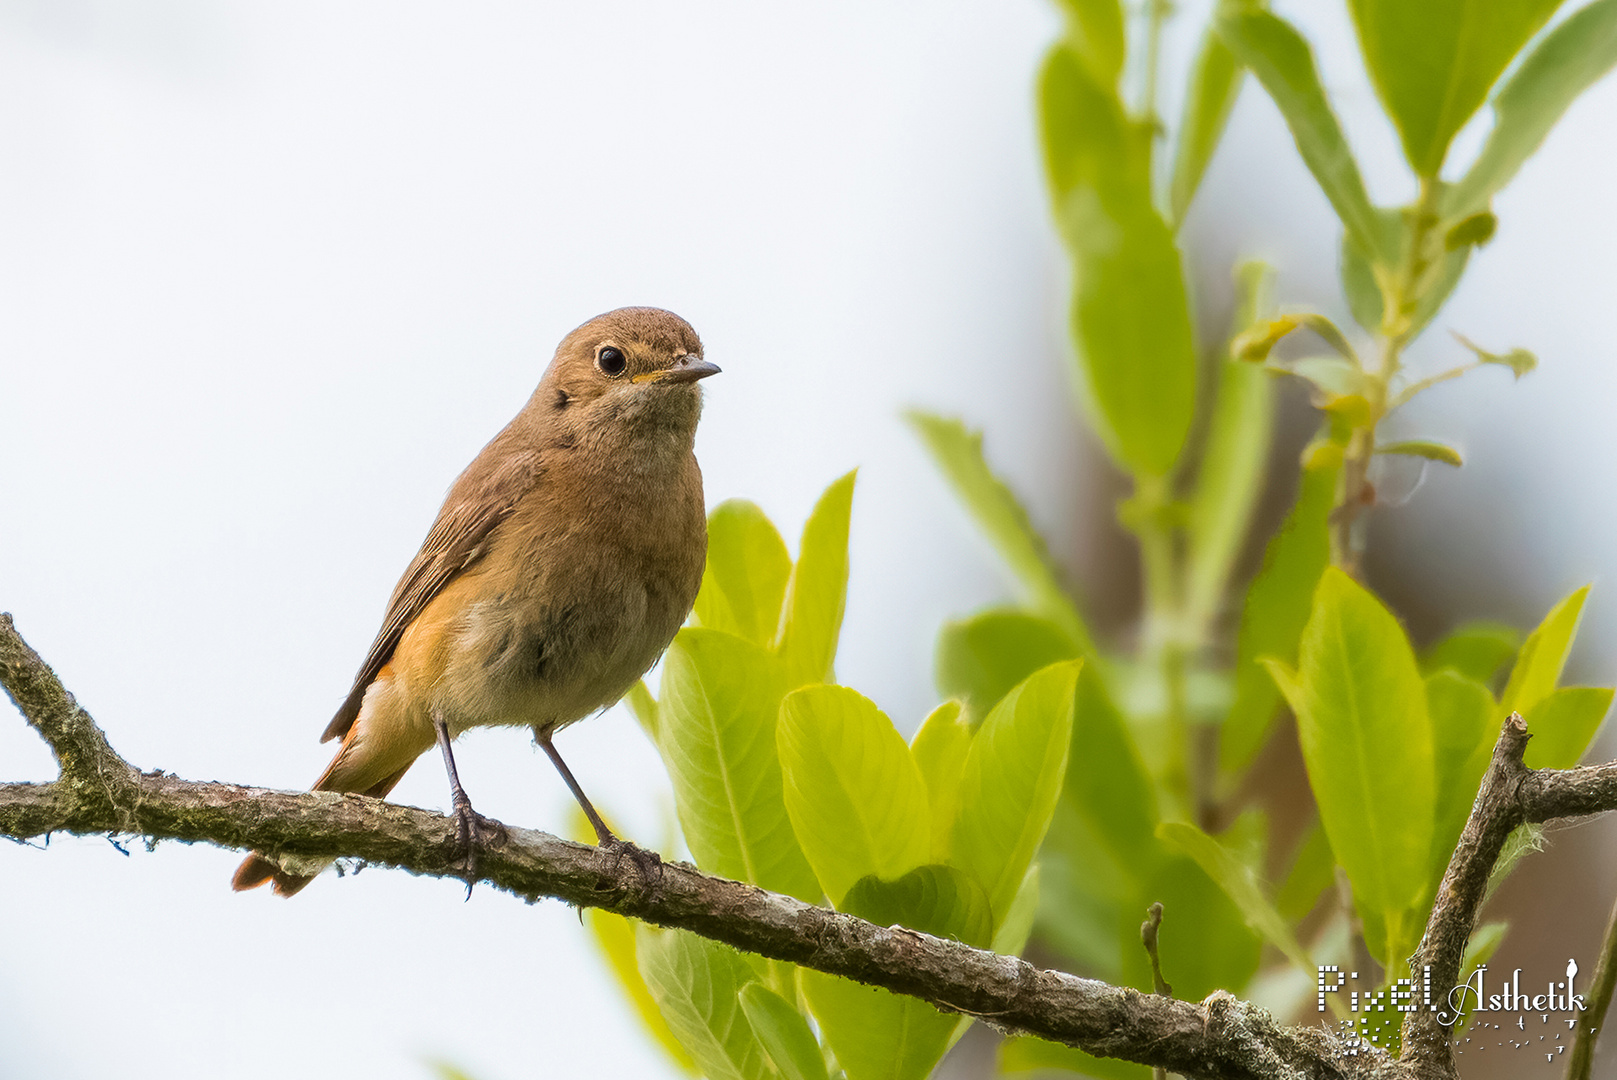
[[[728,500],[708,514],[707,572],[697,593],[700,626],[768,648],[781,626],[792,559],[757,504]]]

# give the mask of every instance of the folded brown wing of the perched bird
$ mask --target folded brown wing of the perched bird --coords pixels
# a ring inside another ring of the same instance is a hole
[[[354,689],[349,690],[348,700],[327,724],[320,742],[348,734],[359,716],[365,689],[393,658],[393,650],[398,648],[404,629],[432,603],[433,597],[443,592],[445,585],[482,558],[488,535],[537,482],[537,454],[509,454],[493,469],[479,467],[483,461],[496,461],[498,458],[498,454],[485,451],[454,482],[450,496],[443,501],[443,509],[438,511],[438,521],[432,524],[420,551],[416,553],[399,584],[395,585],[393,598],[388,600],[388,614],[382,619],[382,631],[370,645],[370,653],[359,668],[359,674],[354,676]]]

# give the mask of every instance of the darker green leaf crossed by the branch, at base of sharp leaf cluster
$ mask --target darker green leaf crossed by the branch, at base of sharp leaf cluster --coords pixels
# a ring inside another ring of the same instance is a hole
[[[878,926],[909,926],[977,947],[986,947],[991,934],[983,891],[951,867],[918,867],[897,881],[865,878],[846,904]],[[847,1080],[920,1080],[949,1048],[957,1017],[917,998],[808,968],[799,978]]]

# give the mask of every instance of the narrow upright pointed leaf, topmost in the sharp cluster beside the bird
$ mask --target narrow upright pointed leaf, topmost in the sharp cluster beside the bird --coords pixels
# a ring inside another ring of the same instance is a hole
[[[854,508],[854,477],[834,482],[804,524],[802,546],[786,587],[786,621],[779,655],[792,687],[830,682],[836,639],[847,600],[847,519]]]

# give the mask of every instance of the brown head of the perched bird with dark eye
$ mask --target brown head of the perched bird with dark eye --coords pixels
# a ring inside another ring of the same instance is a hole
[[[556,346],[534,406],[579,433],[673,430],[690,437],[702,414],[697,380],[716,373],[684,319],[660,307],[597,315]]]

